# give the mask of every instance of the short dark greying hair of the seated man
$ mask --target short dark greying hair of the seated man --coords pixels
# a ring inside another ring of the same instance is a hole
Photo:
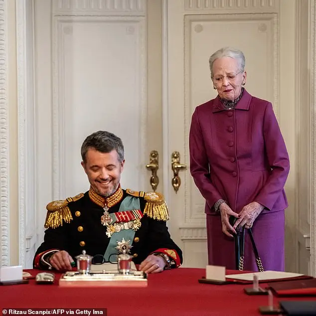
[[[84,163],[87,162],[86,154],[91,148],[101,153],[110,153],[113,150],[116,150],[119,161],[122,162],[124,160],[124,147],[122,140],[112,133],[99,131],[89,135],[84,140],[81,146],[81,157]]]

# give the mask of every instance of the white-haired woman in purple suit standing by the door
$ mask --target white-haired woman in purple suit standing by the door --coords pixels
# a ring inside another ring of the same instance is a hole
[[[245,57],[221,48],[209,58],[218,95],[196,107],[191,121],[190,171],[205,198],[208,262],[235,269],[233,234],[252,227],[265,270],[284,271],[284,185],[289,155],[268,101],[251,96]],[[237,217],[234,226],[229,217]],[[249,234],[245,270],[258,270]]]

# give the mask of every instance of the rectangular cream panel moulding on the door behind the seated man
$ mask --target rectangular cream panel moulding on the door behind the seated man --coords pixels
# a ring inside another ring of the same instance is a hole
[[[52,36],[52,82],[53,82],[53,102],[52,102],[52,125],[53,125],[53,199],[59,199],[64,196],[66,190],[66,149],[65,149],[65,37],[73,36],[73,29],[76,25],[89,27],[90,24],[100,23],[113,24],[115,26],[126,26],[127,34],[138,36],[137,49],[139,51],[139,73],[140,89],[139,100],[142,109],[147,105],[147,42],[146,42],[146,18],[143,16],[55,16],[53,18],[53,36]],[[147,110],[141,112],[140,134],[141,149],[140,157],[146,157],[146,131],[147,131]],[[146,164],[141,161],[140,165]],[[145,185],[141,173],[139,176],[141,185]]]

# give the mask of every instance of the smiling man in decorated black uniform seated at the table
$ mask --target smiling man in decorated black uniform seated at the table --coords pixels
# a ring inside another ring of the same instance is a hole
[[[34,268],[71,270],[83,250],[105,262],[127,250],[146,273],[179,267],[182,252],[168,233],[162,195],[121,188],[121,139],[108,132],[93,133],[83,142],[81,156],[90,190],[47,205],[47,229]]]

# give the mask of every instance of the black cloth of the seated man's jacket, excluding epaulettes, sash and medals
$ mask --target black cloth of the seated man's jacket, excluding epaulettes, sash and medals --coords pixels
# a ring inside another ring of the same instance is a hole
[[[45,230],[44,242],[39,246],[34,257],[34,268],[48,268],[40,258],[52,249],[65,250],[74,260],[82,253],[82,250],[90,256],[104,255],[110,241],[106,235],[107,227],[101,223],[104,210],[90,199],[88,192],[82,198],[68,203],[73,218],[70,223],[63,221],[59,227]],[[121,201],[110,207],[108,212],[118,212],[121,202],[127,195],[126,190],[123,190]],[[144,197],[139,197],[139,199],[143,212],[146,200]],[[167,254],[170,260],[175,262],[171,267],[179,266],[182,263],[182,252],[172,241],[165,221],[144,215],[141,223],[141,227],[135,232],[131,248],[134,263],[140,264],[151,253],[161,252]],[[170,253],[173,255],[175,253],[176,258],[172,258]]]

